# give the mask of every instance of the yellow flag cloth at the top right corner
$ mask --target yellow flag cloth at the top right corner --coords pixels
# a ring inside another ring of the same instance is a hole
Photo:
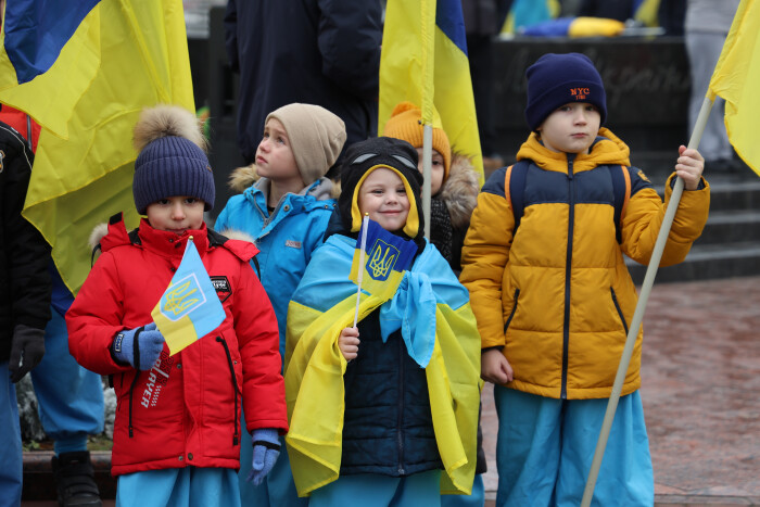
[[[736,153],[760,176],[760,0],[742,0],[723,51],[712,73],[707,97],[725,99],[725,128]]]

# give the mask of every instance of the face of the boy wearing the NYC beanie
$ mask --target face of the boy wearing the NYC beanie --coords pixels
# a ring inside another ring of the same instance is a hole
[[[557,107],[539,127],[541,140],[552,151],[586,153],[599,131],[601,116],[586,102],[570,102]]]

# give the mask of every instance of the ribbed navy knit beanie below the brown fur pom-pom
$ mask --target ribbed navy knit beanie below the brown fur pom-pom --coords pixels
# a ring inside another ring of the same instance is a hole
[[[135,161],[132,194],[140,215],[149,204],[175,195],[188,195],[214,207],[214,175],[206,154],[194,142],[177,136],[151,141]]]

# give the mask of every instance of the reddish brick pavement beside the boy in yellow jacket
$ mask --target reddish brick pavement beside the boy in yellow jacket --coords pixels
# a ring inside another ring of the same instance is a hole
[[[760,505],[759,329],[760,277],[655,283],[644,316],[642,398],[657,506]],[[487,385],[492,500],[497,419]]]

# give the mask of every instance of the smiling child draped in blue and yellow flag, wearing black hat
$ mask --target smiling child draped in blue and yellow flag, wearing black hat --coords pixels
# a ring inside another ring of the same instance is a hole
[[[422,236],[421,180],[405,141],[350,147],[335,217],[293,294],[286,391],[297,430],[287,443],[309,506],[431,506],[442,492],[470,493],[479,337],[467,291]],[[365,214],[414,241],[415,257],[395,293],[365,293],[354,328],[349,274]]]

